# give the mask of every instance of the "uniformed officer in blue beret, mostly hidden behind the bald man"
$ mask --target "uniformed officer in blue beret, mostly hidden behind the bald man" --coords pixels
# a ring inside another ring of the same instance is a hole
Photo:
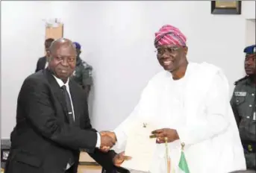
[[[77,42],[73,43],[77,52],[76,67],[72,75],[72,78],[84,88],[87,92],[87,96],[90,93],[91,86],[93,85],[93,76],[92,71],[93,67],[86,63],[84,60],[81,60],[81,45]]]

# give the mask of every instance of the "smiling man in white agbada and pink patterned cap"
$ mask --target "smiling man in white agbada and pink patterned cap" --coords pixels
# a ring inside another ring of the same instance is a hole
[[[155,75],[133,113],[109,135],[125,150],[128,129],[137,119],[151,119],[159,129],[151,173],[166,172],[165,140],[172,167],[178,172],[181,143],[190,173],[228,173],[245,170],[243,147],[229,103],[228,81],[209,63],[187,61],[186,37],[164,25],[155,34],[157,60],[164,71]],[[119,165],[124,160],[119,154]],[[132,158],[131,158],[132,159]]]

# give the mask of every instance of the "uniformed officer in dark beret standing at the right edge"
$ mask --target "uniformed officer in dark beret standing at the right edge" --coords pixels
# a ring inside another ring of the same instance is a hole
[[[256,68],[255,68],[255,45],[250,45],[244,49],[246,59],[244,67],[246,77],[236,81],[233,96],[231,98],[231,107],[237,120],[237,126],[240,131],[247,169],[256,169],[256,105],[255,105],[255,87],[256,87]]]

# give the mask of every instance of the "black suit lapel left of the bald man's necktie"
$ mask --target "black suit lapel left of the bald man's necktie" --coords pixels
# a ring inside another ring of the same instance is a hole
[[[57,81],[54,79],[53,75],[51,74],[49,68],[44,70],[46,73],[46,78],[48,78],[49,84],[51,85],[51,89],[54,92],[54,95],[56,96],[57,100],[60,102],[62,108],[63,108],[63,113],[66,116],[66,119],[68,118],[68,111],[66,109],[66,101],[63,95],[62,90],[60,89],[59,84],[57,84]]]

